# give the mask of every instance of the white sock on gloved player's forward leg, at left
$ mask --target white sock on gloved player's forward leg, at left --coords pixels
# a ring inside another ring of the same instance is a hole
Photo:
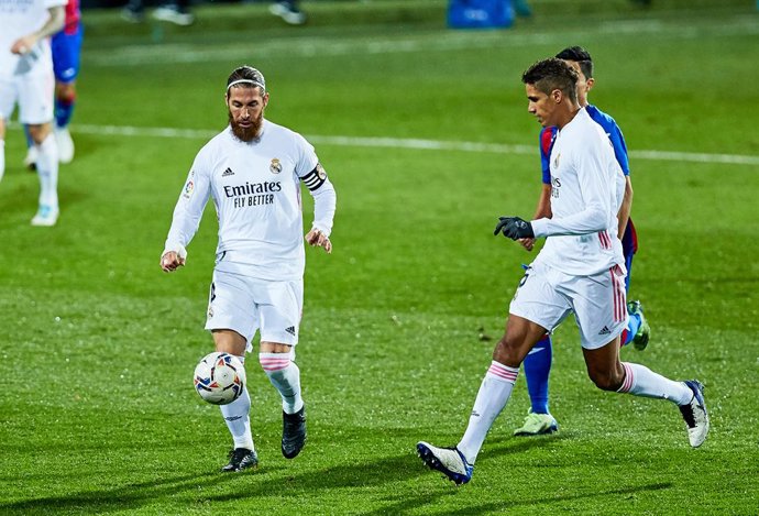
[[[491,363],[480,385],[464,437],[457,446],[470,464],[474,464],[487,431],[512,396],[518,373],[519,369],[509,367],[495,360]]]

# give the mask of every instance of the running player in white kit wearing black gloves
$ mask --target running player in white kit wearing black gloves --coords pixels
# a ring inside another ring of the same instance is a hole
[[[570,314],[580,329],[587,373],[598,388],[674,403],[694,448],[708,432],[700,382],[675,382],[644,365],[619,361],[627,310],[617,213],[625,177],[608,138],[578,102],[576,72],[564,61],[550,58],[525,72],[522,83],[528,111],[542,127],[558,128],[550,155],[552,218],[499,218],[495,234],[512,240],[544,237],[546,244],[512,300],[506,331],[495,347],[462,439],[452,448],[417,443],[425,464],[457,484],[472,479],[485,436],[512,396],[525,356]]]

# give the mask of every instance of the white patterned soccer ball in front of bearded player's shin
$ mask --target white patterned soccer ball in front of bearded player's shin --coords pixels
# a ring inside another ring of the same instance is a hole
[[[213,405],[234,402],[245,388],[245,367],[234,355],[216,351],[195,367],[195,389]]]

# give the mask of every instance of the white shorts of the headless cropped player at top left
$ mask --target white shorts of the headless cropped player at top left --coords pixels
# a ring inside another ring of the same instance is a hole
[[[19,122],[42,124],[53,120],[55,78],[50,73],[0,77],[0,118],[8,121],[19,103]]]

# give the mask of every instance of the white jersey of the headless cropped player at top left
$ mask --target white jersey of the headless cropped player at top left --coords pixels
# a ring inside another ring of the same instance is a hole
[[[19,37],[32,34],[47,22],[47,10],[67,0],[0,0],[0,77],[40,73],[53,68],[50,40],[43,37],[24,56],[11,53]]]

